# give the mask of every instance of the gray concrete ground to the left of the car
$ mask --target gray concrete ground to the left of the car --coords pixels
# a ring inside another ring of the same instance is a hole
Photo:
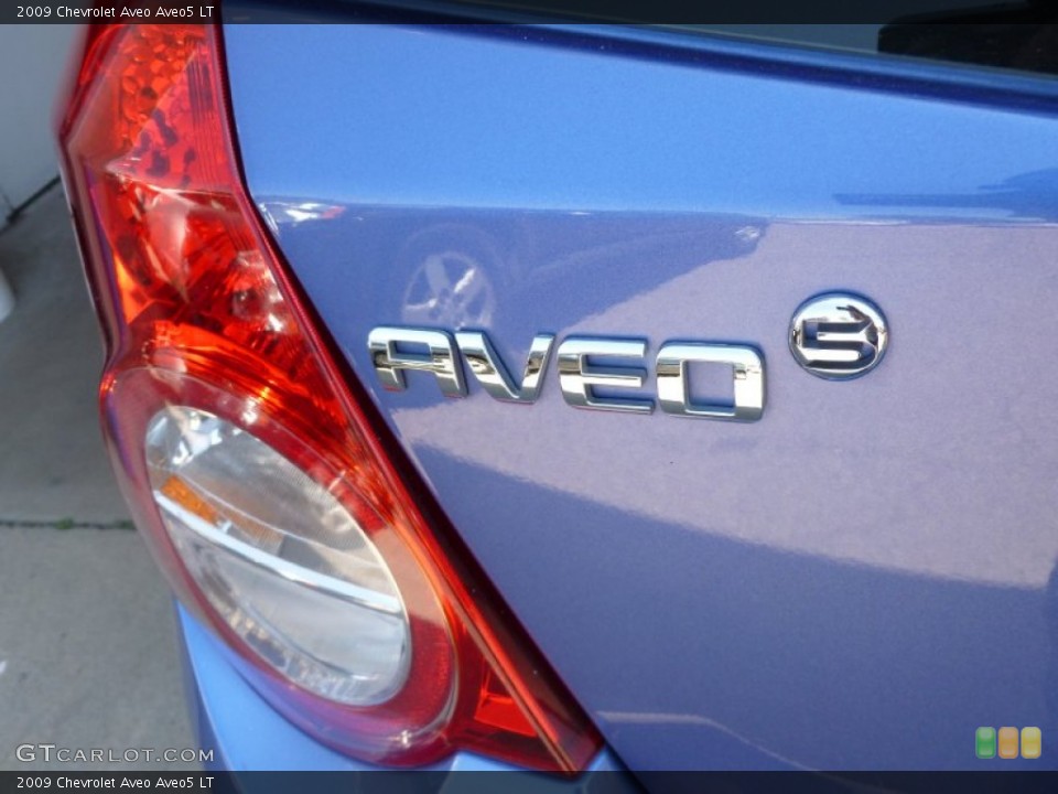
[[[0,270],[17,296],[0,323],[0,769],[179,769],[15,755],[194,739],[169,593],[102,449],[102,348],[61,189],[0,232]]]

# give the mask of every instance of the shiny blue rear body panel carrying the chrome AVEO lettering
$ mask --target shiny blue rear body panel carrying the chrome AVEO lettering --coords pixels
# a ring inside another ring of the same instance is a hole
[[[625,764],[1054,768],[973,754],[1058,729],[1054,82],[629,29],[224,33],[282,253]],[[850,383],[787,350],[833,289],[892,324]],[[512,371],[539,332],[752,344],[768,404],[580,411],[553,365],[531,407],[387,393],[380,324],[485,330]]]

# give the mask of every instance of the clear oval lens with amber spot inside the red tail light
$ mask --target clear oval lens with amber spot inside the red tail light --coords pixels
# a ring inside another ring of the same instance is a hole
[[[370,706],[400,690],[408,613],[385,560],[332,492],[197,408],[162,408],[145,448],[170,540],[239,639],[330,700]]]

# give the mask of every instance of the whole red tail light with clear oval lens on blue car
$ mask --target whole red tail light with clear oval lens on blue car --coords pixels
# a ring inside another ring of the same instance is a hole
[[[582,769],[598,739],[339,374],[242,189],[201,25],[95,26],[60,138],[105,434],[179,598],[371,762]]]

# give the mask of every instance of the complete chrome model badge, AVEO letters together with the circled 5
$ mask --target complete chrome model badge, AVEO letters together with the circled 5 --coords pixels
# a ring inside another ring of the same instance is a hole
[[[859,377],[885,355],[889,330],[882,310],[860,296],[828,292],[802,303],[790,320],[789,344],[797,363],[831,380]],[[484,331],[380,325],[367,340],[371,365],[390,391],[403,391],[407,372],[424,372],[445,397],[466,397],[464,364],[489,396],[504,403],[536,403],[554,352],[562,397],[574,408],[650,414],[656,405],[671,416],[728,421],[757,421],[764,415],[764,355],[749,345],[716,342],[666,342],[654,358],[657,398],[641,390],[647,371],[647,342],[635,339],[566,336],[555,347],[553,334],[537,334],[521,378],[510,375]],[[605,360],[613,361],[609,365]],[[731,372],[732,398],[710,403],[691,395],[690,367],[723,365]],[[600,391],[596,391],[600,389]]]

